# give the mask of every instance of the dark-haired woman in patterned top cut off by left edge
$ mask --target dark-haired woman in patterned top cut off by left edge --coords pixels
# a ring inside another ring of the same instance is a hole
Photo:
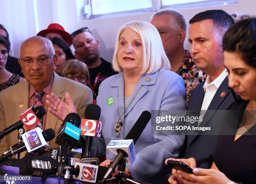
[[[9,51],[10,42],[8,38],[0,35],[0,92],[25,80],[24,78],[21,78],[18,74],[12,74],[5,69],[5,64]]]

